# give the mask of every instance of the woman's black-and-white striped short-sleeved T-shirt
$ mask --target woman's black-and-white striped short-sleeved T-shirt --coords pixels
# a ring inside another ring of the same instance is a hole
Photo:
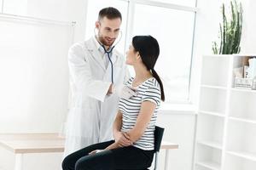
[[[134,78],[131,77],[129,81],[126,82],[126,85],[131,87],[133,80]],[[150,77],[136,88],[136,92],[136,95],[129,99],[119,99],[119,111],[123,116],[121,131],[127,132],[135,126],[143,101],[153,102],[156,108],[148,123],[148,127],[144,131],[143,136],[133,145],[142,150],[154,150],[154,126],[160,107],[160,84],[154,77]]]

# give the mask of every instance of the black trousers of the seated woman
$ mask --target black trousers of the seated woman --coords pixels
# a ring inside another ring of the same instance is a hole
[[[151,166],[154,150],[141,150],[127,146],[88,155],[93,150],[103,150],[113,140],[92,144],[67,156],[62,161],[63,170],[143,170]]]

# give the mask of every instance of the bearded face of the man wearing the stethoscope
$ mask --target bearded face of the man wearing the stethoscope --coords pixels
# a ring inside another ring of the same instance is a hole
[[[119,18],[108,20],[103,17],[102,20],[96,21],[96,28],[99,30],[99,40],[105,46],[111,46],[115,39],[119,36],[121,20]]]

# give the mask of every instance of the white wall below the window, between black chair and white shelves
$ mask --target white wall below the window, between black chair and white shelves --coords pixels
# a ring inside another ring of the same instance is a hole
[[[165,141],[179,145],[170,150],[168,169],[189,170],[192,167],[195,139],[195,111],[160,111],[157,124],[165,127]],[[160,150],[159,169],[164,169],[165,150]]]

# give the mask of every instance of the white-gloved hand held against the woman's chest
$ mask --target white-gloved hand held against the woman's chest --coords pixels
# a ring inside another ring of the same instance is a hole
[[[132,96],[136,95],[136,90],[128,87],[126,85],[113,85],[113,94],[117,94],[119,98],[129,99]]]

